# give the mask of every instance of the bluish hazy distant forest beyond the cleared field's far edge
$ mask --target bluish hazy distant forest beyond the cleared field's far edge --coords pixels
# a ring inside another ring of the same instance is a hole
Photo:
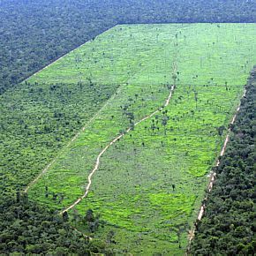
[[[2,0],[0,94],[117,24],[256,22],[255,5],[253,0]]]

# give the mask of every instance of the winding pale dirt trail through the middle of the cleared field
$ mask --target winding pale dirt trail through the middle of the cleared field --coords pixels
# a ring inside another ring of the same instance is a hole
[[[175,68],[175,71],[176,71],[176,68]],[[175,72],[174,71],[174,72]],[[160,109],[156,109],[153,113],[151,113],[150,115],[146,116],[146,117],[143,117],[142,119],[140,119],[137,123],[134,124],[134,126],[137,126],[138,124],[142,123],[143,121],[146,121],[148,118],[151,118],[151,117],[154,117],[154,115],[156,113],[158,113],[160,110],[162,110],[164,107],[167,107],[169,105],[169,102],[170,102],[170,99],[172,97],[172,94],[174,92],[174,89],[175,89],[176,85],[173,85],[171,88],[170,88],[170,91],[169,91],[169,96],[167,98],[167,100],[165,101],[165,104],[163,105],[162,108]],[[100,154],[98,154],[97,156],[97,159],[96,159],[96,163],[94,165],[94,169],[91,171],[91,173],[89,174],[88,176],[88,184],[87,184],[87,187],[86,187],[86,191],[85,193],[79,197],[78,200],[76,200],[70,207],[66,207],[63,211],[61,211],[59,214],[62,215],[64,214],[64,212],[67,212],[69,210],[71,210],[73,207],[75,207],[76,205],[79,204],[79,202],[83,199],[85,199],[87,197],[87,194],[90,190],[90,187],[91,187],[91,184],[92,184],[92,177],[94,176],[94,173],[97,169],[99,169],[99,166],[100,166],[100,160],[101,160],[101,157],[102,157],[102,154],[104,154],[109,147],[111,147],[114,143],[117,142],[118,139],[121,139],[122,137],[124,137],[124,135],[128,132],[131,132],[132,131],[132,128],[128,128],[125,132],[123,132],[122,134],[120,134],[119,136],[117,136],[115,139],[113,139],[111,142],[109,142],[109,144],[104,147],[102,149],[102,152]]]

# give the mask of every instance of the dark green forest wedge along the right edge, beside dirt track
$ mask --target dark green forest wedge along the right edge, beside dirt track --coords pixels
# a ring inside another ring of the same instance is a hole
[[[255,255],[256,68],[192,243],[193,255]]]

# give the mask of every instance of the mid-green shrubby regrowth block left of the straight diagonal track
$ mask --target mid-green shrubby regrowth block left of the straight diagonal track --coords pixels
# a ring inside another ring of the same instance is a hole
[[[117,86],[23,84],[1,96],[0,190],[24,189]],[[49,192],[45,191],[46,197]]]

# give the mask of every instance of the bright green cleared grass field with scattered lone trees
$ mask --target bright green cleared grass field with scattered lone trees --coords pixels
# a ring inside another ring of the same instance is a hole
[[[101,214],[106,224],[94,237],[106,239],[113,230],[117,244],[110,246],[118,253],[183,254],[226,134],[218,128],[230,124],[256,61],[255,32],[254,24],[116,26],[36,73],[27,82],[117,91],[32,186],[30,198],[56,209],[72,204],[102,148],[162,107],[176,81],[169,106],[103,154],[76,209]]]

